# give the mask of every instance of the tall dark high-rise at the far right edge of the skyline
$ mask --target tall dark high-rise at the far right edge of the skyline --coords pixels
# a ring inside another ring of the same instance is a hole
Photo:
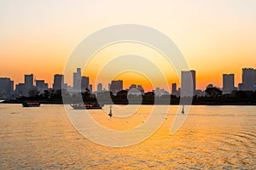
[[[256,70],[253,68],[242,69],[242,83],[240,90],[256,90]]]

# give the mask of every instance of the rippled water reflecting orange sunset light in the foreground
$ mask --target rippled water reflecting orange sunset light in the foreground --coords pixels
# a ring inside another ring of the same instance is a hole
[[[113,108],[113,115],[122,107]],[[104,127],[127,130],[143,123],[152,107],[141,105],[128,117],[80,112]],[[170,134],[176,111],[171,105],[167,116],[159,113],[164,123],[148,139],[113,148],[84,138],[63,105],[0,104],[0,169],[256,168],[255,106],[192,106],[183,126]]]

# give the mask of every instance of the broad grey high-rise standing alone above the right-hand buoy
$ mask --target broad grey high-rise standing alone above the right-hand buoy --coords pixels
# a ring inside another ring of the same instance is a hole
[[[193,96],[195,94],[195,71],[181,72],[181,96]]]

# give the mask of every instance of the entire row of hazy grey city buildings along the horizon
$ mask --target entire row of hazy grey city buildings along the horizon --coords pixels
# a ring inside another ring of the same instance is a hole
[[[35,82],[35,84],[34,84]],[[212,88],[213,85],[209,84],[207,88]],[[52,88],[49,88],[48,83],[45,83],[44,80],[35,80],[33,74],[25,75],[24,82],[18,83],[15,85],[14,90],[14,81],[9,77],[0,77],[0,98],[9,99],[19,96],[31,96],[33,93],[43,94],[45,90],[59,90],[61,88],[67,89],[68,92],[73,94],[79,92],[85,92],[90,90],[90,93],[93,94],[93,87],[90,84],[89,77],[82,77],[81,69],[77,68],[77,71],[73,73],[73,87],[67,85],[64,82],[64,75],[55,74],[54,83]],[[255,91],[256,90],[256,70],[253,68],[243,68],[242,69],[242,82],[238,84],[238,88],[235,87],[235,75],[234,74],[223,74],[223,94],[231,94],[234,90],[241,91]],[[129,89],[124,89],[123,80],[113,80],[108,84],[108,91],[111,91],[113,94],[117,94],[121,90],[128,91],[129,94],[144,94],[143,85],[131,84]],[[103,88],[102,83],[98,83],[96,86],[96,92],[101,93],[107,91]],[[156,96],[162,96],[170,94],[165,89],[155,88],[154,94]],[[199,89],[196,89],[196,75],[195,71],[182,71],[181,72],[181,88],[177,88],[177,83],[172,83],[172,92],[171,94],[176,96],[188,96],[188,95],[198,95],[204,96],[205,92]]]

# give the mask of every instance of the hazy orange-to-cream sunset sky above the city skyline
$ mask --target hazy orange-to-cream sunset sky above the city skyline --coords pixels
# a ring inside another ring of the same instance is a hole
[[[33,73],[51,87],[54,74],[62,74],[69,55],[85,37],[104,27],[131,23],[150,26],[170,37],[189,67],[196,71],[197,88],[204,89],[209,83],[222,87],[223,73],[235,73],[237,86],[241,82],[241,68],[256,68],[255,8],[253,0],[2,0],[0,77],[11,77],[18,83],[24,81],[24,74]],[[128,49],[131,54],[148,58],[158,55],[141,46],[119,44],[104,48],[97,55],[109,59],[129,54]],[[178,82],[172,66],[169,72],[168,65],[161,61],[159,65],[168,82]],[[102,65],[92,59],[84,76],[94,82],[96,70]],[[137,75],[137,80],[132,80],[131,75],[120,73],[116,78],[127,80],[125,88],[132,81],[144,81],[149,90],[150,83],[145,77]],[[72,85],[72,81],[67,82]],[[107,88],[107,82],[102,82]]]

